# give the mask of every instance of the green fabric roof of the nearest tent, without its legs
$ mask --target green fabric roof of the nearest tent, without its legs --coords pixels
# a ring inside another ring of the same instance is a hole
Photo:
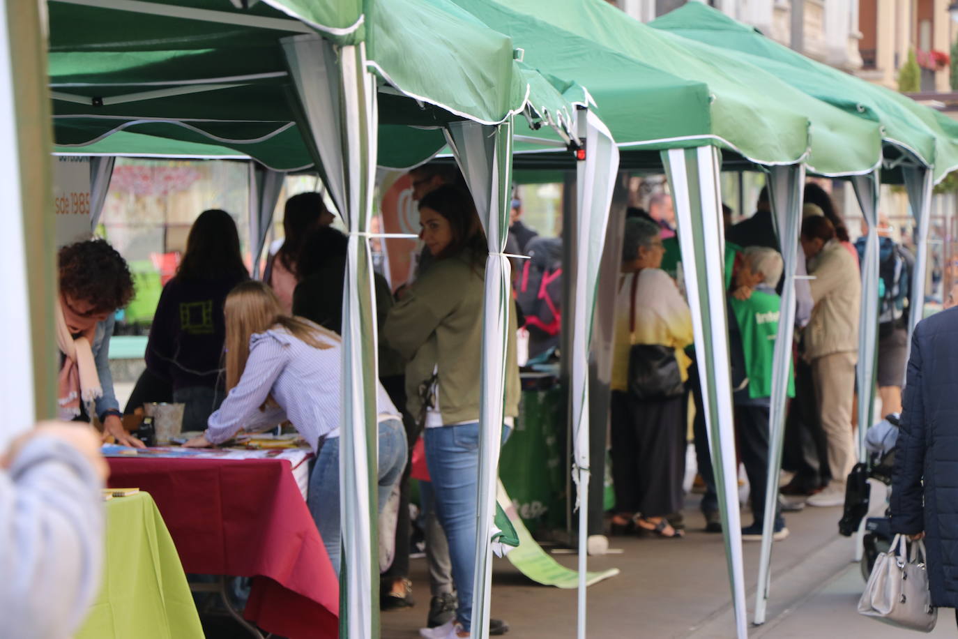
[[[51,0],[57,144],[125,130],[233,148],[277,170],[308,167],[280,40],[354,25],[353,4],[271,0],[240,10],[229,0]],[[531,82],[512,40],[466,11],[447,0],[361,5],[361,28],[333,35],[364,38],[381,79],[383,165],[411,166],[442,148],[442,133],[430,127],[497,123],[530,103],[547,124],[569,126],[573,104],[552,82]]]

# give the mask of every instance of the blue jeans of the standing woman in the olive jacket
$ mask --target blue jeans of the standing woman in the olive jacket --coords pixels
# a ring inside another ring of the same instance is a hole
[[[502,443],[509,439],[502,427]],[[425,429],[425,461],[435,497],[436,514],[449,541],[452,581],[459,606],[456,619],[472,623],[472,580],[475,578],[476,513],[479,497],[479,422]]]

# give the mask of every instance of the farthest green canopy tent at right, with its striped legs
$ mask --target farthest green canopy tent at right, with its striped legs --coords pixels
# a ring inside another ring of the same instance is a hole
[[[764,37],[755,29],[743,25],[720,11],[699,3],[689,3],[650,23],[650,26],[680,34],[692,40],[734,50],[756,66],[778,75],[810,96],[858,117],[878,122],[882,127],[883,171],[881,179],[903,182],[917,223],[918,256],[912,280],[913,304],[910,308],[909,333],[922,318],[924,300],[924,270],[927,262],[927,234],[930,217],[931,188],[934,181],[944,179],[958,166],[958,124],[921,104],[864,80],[842,73],[833,67],[804,57],[787,47]],[[871,423],[874,398],[874,371],[876,352],[875,317],[878,311],[878,174],[870,179],[854,178],[853,186],[868,222],[865,259],[862,269],[864,298],[861,306],[858,358],[858,422]],[[783,239],[792,236],[782,234]],[[780,329],[784,329],[780,324]],[[790,335],[779,335],[780,342],[790,341]],[[910,340],[909,340],[910,343]],[[776,377],[785,377],[787,355],[776,361]],[[769,472],[768,499],[777,493],[777,468],[781,467],[784,439],[784,387],[773,398],[772,451]],[[859,428],[859,458],[864,461],[865,428]],[[770,503],[770,502],[769,502]],[[767,508],[767,506],[766,506]],[[771,513],[767,513],[765,530],[770,529]],[[860,543],[856,545],[860,553]],[[764,623],[765,605],[769,588],[768,564],[771,539],[763,539],[760,561],[756,623]]]

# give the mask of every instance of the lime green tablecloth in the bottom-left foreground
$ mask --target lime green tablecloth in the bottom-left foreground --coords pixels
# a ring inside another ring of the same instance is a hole
[[[75,639],[202,639],[183,566],[146,492],[106,502],[100,597]]]

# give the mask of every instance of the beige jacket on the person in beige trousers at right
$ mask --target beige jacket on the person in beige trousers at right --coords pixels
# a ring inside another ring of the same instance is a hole
[[[811,310],[805,329],[805,356],[811,361],[858,350],[861,276],[855,258],[838,240],[830,240],[809,262]]]

